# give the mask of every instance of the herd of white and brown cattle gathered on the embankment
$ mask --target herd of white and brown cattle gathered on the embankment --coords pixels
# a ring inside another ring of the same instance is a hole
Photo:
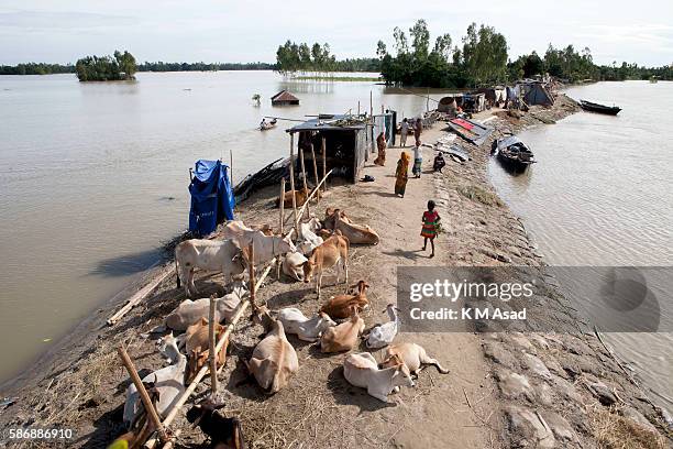
[[[366,388],[377,399],[389,402],[388,395],[400,386],[413,386],[413,377],[427,364],[433,364],[446,373],[437,360],[416,343],[393,341],[398,330],[397,308],[388,305],[388,322],[369,329],[361,313],[369,307],[366,291],[369,285],[358,281],[349,292],[349,251],[351,244],[377,244],[378,234],[368,226],[354,223],[343,210],[328,208],[324,220],[311,218],[286,237],[274,236],[268,227],[247,227],[242,221],[223,226],[222,240],[186,240],[175,249],[177,287],[184,286],[188,297],[199,294],[195,270],[220,272],[229,292],[216,298],[216,335],[219,339],[225,326],[231,324],[238,308],[249,294],[243,282],[250,263],[249,248],[253,248],[254,266],[280,258],[283,272],[298,282],[310,283],[315,278],[318,299],[321,298],[323,274],[336,272],[336,284],[343,275],[345,293],[326,300],[312,317],[294,307],[269,310],[252,302],[253,322],[264,327],[265,336],[254,348],[252,358],[244,361],[250,374],[262,388],[276,393],[285,387],[299,369],[297,352],[286,335],[296,335],[302,341],[319,344],[324,353],[350,351],[366,340],[369,349],[386,348],[383,363],[377,363],[368,352],[353,353],[344,360],[343,374],[352,385]],[[170,330],[158,340],[158,352],[168,365],[143,379],[154,398],[157,414],[165,418],[195,374],[209,360],[210,298],[185,299],[164,320],[158,330]],[[222,325],[223,324],[223,325]],[[177,337],[174,337],[174,333]],[[217,354],[218,365],[223,363],[227,344]],[[132,447],[139,441],[141,428],[147,419],[139,392],[131,384],[126,390],[124,425],[129,432],[113,445],[123,442]],[[189,421],[198,425],[210,438],[213,447],[244,447],[241,424],[235,418],[224,418],[217,405],[203,402],[187,413]],[[219,446],[218,446],[219,445]]]

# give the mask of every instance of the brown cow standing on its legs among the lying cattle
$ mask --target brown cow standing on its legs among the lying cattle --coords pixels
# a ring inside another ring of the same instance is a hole
[[[341,271],[345,272],[345,283],[349,283],[349,239],[341,232],[334,232],[320,247],[316,248],[311,256],[304,263],[304,282],[309,283],[316,275],[316,292],[320,299],[320,287],[322,285],[322,274],[326,270],[336,265],[336,284]]]

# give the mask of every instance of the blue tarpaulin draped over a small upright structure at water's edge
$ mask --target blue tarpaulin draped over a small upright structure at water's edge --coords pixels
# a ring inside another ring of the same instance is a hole
[[[234,219],[235,201],[227,168],[221,161],[196,162],[189,184],[189,230],[196,236],[208,236],[216,230],[218,223]]]

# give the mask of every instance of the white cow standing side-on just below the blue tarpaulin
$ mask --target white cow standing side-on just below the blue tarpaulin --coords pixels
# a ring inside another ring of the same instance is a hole
[[[241,250],[231,240],[185,240],[175,247],[175,270],[177,286],[184,282],[187,296],[199,293],[194,285],[195,269],[221,272],[228,285],[232,276],[245,271],[245,264]]]

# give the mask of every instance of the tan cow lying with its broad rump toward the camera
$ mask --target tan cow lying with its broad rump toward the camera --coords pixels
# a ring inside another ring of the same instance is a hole
[[[285,337],[282,321],[272,320],[269,332],[255,347],[245,365],[260,386],[272,394],[287,385],[289,377],[299,370],[299,360]]]

